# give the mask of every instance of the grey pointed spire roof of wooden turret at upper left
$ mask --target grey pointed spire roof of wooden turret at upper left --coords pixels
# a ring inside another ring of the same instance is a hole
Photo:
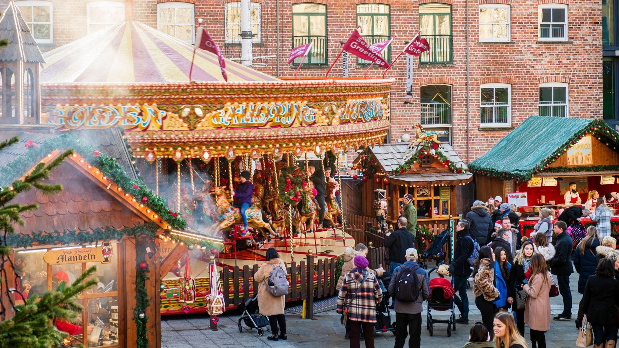
[[[9,7],[2,13],[0,19],[0,40],[6,39],[8,45],[0,50],[0,61],[24,61],[28,63],[44,63],[37,41],[32,37],[30,28],[15,6],[9,2]]]

